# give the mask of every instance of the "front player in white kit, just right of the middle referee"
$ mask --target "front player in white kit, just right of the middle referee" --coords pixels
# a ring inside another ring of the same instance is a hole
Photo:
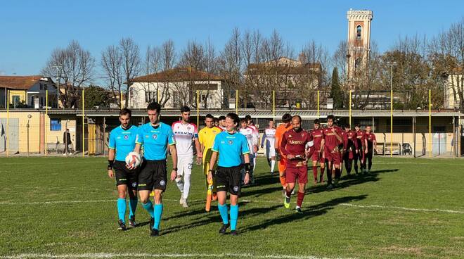
[[[172,132],[174,133],[174,139],[176,139],[177,148],[178,171],[176,184],[179,191],[181,191],[179,203],[184,208],[188,207],[187,198],[190,191],[190,178],[193,168],[193,143],[195,143],[197,151],[197,163],[201,163],[202,160],[200,142],[198,141],[198,128],[189,121],[190,108],[183,106],[181,108],[181,120],[172,124]]]

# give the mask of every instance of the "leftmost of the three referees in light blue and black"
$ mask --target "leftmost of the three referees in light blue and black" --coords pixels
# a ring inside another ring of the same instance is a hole
[[[120,111],[120,122],[120,127],[116,127],[110,132],[108,177],[116,178],[117,214],[119,215],[117,229],[126,230],[127,194],[129,194],[129,225],[136,227],[138,168],[127,168],[126,156],[134,150],[138,128],[131,125],[131,110],[127,108]],[[114,174],[113,170],[115,170]]]

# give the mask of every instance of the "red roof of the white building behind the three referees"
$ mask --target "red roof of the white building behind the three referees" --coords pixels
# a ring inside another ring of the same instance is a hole
[[[131,82],[183,82],[183,81],[207,81],[223,80],[218,75],[209,72],[195,70],[193,68],[173,68],[163,72],[157,72],[150,75],[134,77]]]

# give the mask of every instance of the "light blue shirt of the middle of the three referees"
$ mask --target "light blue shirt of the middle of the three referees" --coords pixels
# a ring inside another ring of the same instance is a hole
[[[176,144],[171,126],[160,122],[153,127],[150,122],[138,127],[136,144],[143,145],[143,157],[146,160],[165,160],[167,146]]]

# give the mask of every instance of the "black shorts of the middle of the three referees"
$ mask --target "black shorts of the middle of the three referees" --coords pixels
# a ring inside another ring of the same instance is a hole
[[[138,174],[138,191],[165,191],[166,184],[166,160],[143,160]]]

